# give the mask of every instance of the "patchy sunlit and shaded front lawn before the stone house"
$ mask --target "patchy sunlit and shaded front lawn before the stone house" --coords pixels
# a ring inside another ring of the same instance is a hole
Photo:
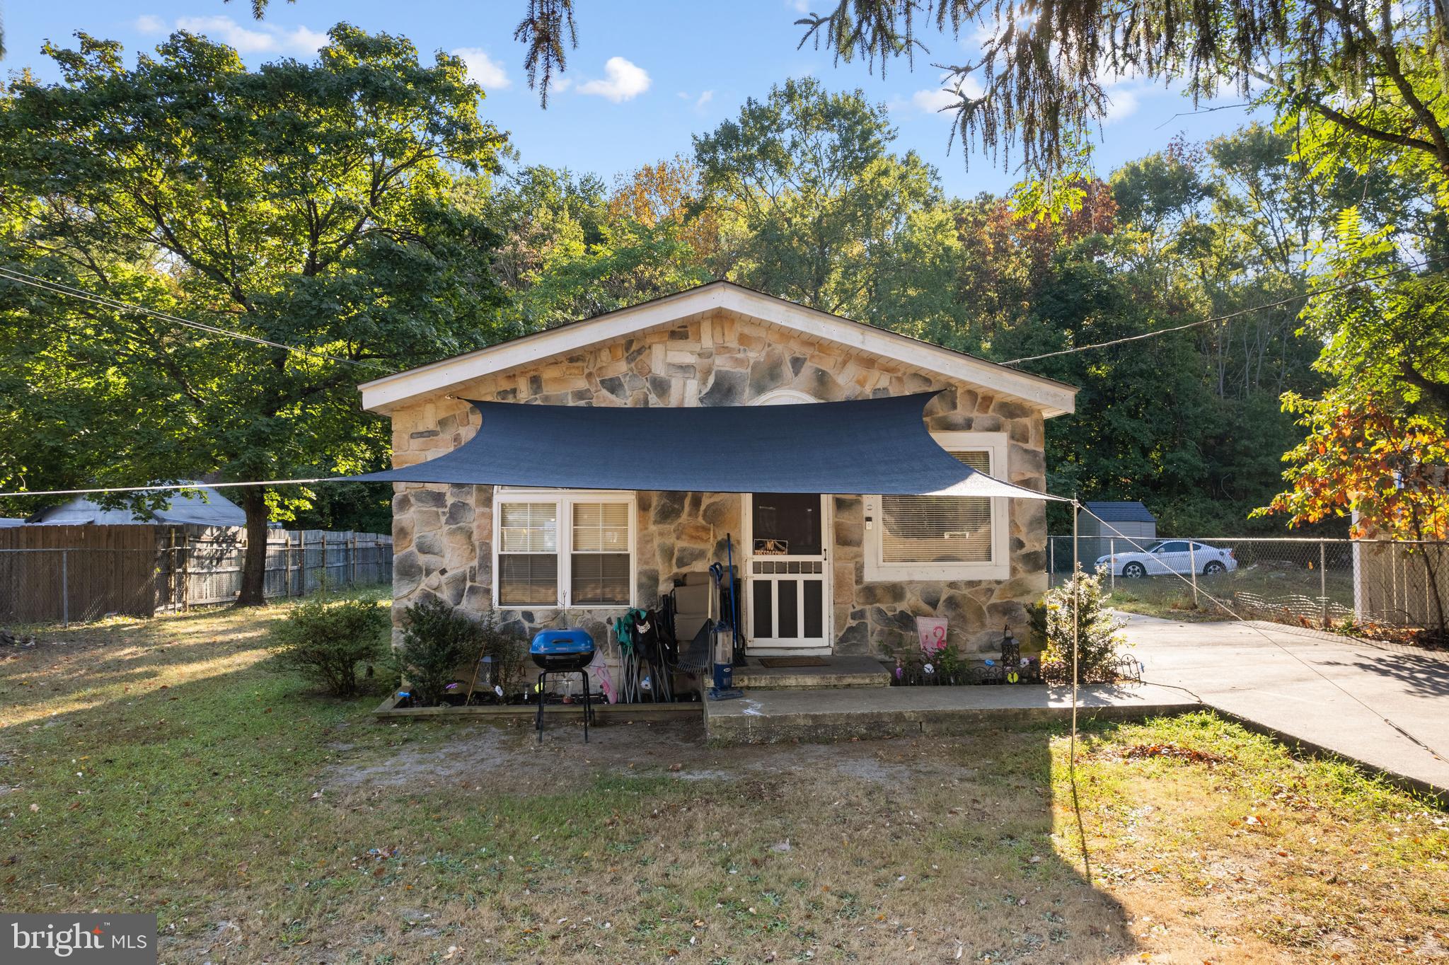
[[[156,911],[217,965],[1449,955],[1446,816],[1211,714],[1085,729],[1075,784],[1052,729],[536,743],[309,694],[283,613],[0,659],[0,908]]]

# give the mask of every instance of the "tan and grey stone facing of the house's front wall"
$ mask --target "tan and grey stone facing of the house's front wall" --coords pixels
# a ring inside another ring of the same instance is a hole
[[[822,401],[945,390],[927,407],[932,430],[1007,432],[1007,478],[1045,488],[1039,410],[980,387],[916,371],[894,359],[726,312],[681,319],[568,356],[490,375],[454,390],[467,398],[574,406],[740,406],[777,388]],[[477,413],[461,398],[435,397],[393,416],[394,465],[412,465],[468,440]],[[491,601],[493,487],[398,484],[393,497],[394,623],[403,607],[436,596],[467,611]],[[638,493],[638,601],[655,606],[674,577],[724,561],[724,535],[738,539],[743,497],[714,493]],[[1046,590],[1046,509],[1011,507],[1007,580],[864,581],[864,507],[855,496],[833,504],[833,627],[838,653],[891,653],[914,648],[916,617],[945,616],[964,652],[995,651],[1010,624],[1026,639],[1024,606]],[[546,611],[500,611],[525,633],[561,624]],[[571,610],[601,643],[616,611]]]

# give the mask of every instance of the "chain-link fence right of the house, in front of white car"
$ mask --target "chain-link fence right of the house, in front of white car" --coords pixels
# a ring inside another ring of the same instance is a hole
[[[1072,538],[1048,543],[1056,584],[1072,572]],[[1243,617],[1310,626],[1443,627],[1449,614],[1446,542],[1091,536],[1078,556],[1124,603],[1211,611],[1216,598]]]

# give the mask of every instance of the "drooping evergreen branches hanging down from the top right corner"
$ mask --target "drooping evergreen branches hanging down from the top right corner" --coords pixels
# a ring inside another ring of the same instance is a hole
[[[956,133],[1026,165],[1064,170],[1072,136],[1101,120],[1116,77],[1181,80],[1194,100],[1233,90],[1335,125],[1346,138],[1417,152],[1449,178],[1449,58],[1439,3],[1394,0],[1165,0],[1039,4],[1017,0],[838,0],[797,20],[836,59],[881,70],[926,52],[922,33],[961,39],[984,25],[978,55],[948,71]],[[980,93],[978,93],[980,91]]]

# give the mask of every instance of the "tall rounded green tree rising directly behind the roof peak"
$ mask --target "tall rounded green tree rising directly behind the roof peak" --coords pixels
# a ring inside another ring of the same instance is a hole
[[[882,104],[813,78],[751,97],[738,119],[696,136],[726,274],[887,327],[911,320],[897,314],[900,298],[949,287],[958,245],[951,219],[929,214],[943,203],[935,170],[914,152],[890,154],[894,139]],[[917,277],[901,291],[906,271]]]

